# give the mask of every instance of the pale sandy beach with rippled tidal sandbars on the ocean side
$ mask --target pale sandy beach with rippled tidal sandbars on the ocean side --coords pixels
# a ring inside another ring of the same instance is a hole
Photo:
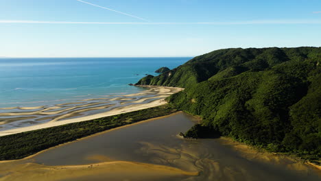
[[[29,111],[0,113],[0,117],[11,116],[9,119],[2,119],[2,124],[15,123],[14,121],[16,120],[25,121],[23,120],[23,117],[27,117],[29,119],[32,118],[36,121],[49,120],[45,123],[37,123],[36,125],[29,125],[22,128],[2,130],[0,131],[0,136],[16,134],[20,132],[27,132],[32,130],[39,130],[43,128],[50,128],[53,126],[64,125],[68,123],[88,121],[91,119],[98,119],[116,114],[132,112],[135,110],[142,110],[145,108],[160,106],[166,104],[166,97],[183,90],[182,88],[162,86],[146,86],[146,88],[147,90],[144,90],[141,93],[136,93],[132,95],[122,95],[117,99],[114,98],[112,101],[107,98],[102,98],[106,101],[102,101],[102,99],[95,99],[90,100],[90,102],[84,104],[85,100],[82,100],[79,104],[73,102],[71,104],[56,105],[50,108],[45,108],[44,106],[38,106],[34,108],[20,108],[20,110]],[[64,107],[66,105],[69,107]],[[102,111],[104,109],[106,109],[106,111],[99,112],[97,114],[83,114],[84,112],[90,112],[93,110]],[[37,119],[31,117],[36,115],[45,117],[37,117]]]

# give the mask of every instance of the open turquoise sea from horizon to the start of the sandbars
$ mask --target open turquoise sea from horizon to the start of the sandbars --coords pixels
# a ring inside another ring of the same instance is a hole
[[[128,86],[191,58],[1,58],[0,108],[48,106],[137,93]]]

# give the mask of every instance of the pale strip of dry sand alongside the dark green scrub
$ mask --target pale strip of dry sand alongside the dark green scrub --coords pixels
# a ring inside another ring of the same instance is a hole
[[[183,90],[182,88],[174,88],[174,87],[164,87],[164,86],[145,86],[145,88],[148,88],[147,90],[142,91],[141,93],[136,93],[132,95],[123,95],[123,97],[131,97],[131,96],[141,96],[141,95],[148,95],[150,93],[155,93],[154,97],[160,98],[155,101],[151,101],[146,104],[131,104],[128,106],[119,106],[115,107],[112,110],[108,110],[106,112],[102,113],[97,113],[97,114],[92,114],[92,115],[87,115],[84,117],[76,117],[76,118],[71,118],[71,119],[66,119],[62,121],[49,121],[47,123],[41,123],[38,125],[32,125],[32,126],[27,126],[27,127],[22,127],[22,128],[14,128],[10,130],[3,130],[0,131],[0,136],[6,136],[10,134],[17,134],[21,132],[28,132],[28,131],[33,131],[33,130],[40,130],[44,128],[51,128],[59,125],[65,125],[69,123],[78,123],[82,121],[90,121],[92,119],[99,119],[102,117],[109,117],[117,114],[122,114],[122,113],[127,113],[127,112],[133,112],[136,110],[143,110],[146,108],[153,108],[156,106],[161,106],[164,104],[167,104],[165,101],[165,98],[168,97],[169,95],[172,95],[174,93],[178,93],[179,91]],[[153,97],[150,97],[153,98]]]

